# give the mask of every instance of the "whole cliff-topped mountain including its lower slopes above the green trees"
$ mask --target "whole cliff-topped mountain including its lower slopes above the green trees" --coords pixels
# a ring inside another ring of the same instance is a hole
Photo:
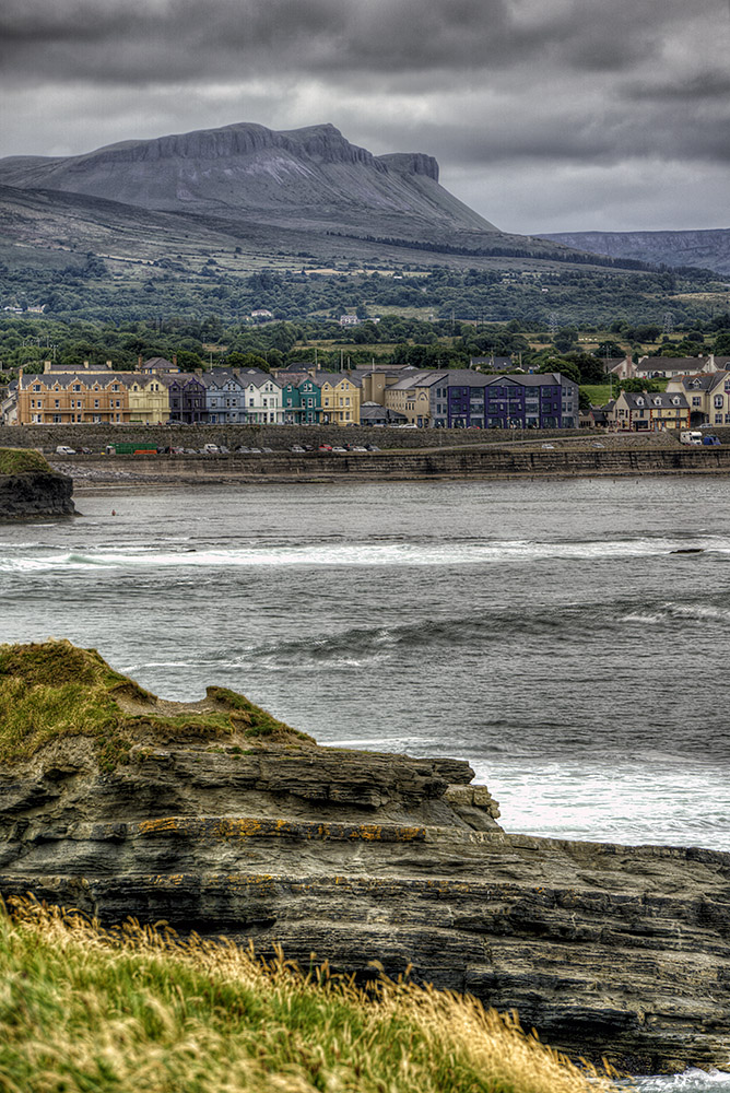
[[[211,263],[239,275],[301,269],[303,258],[531,272],[613,265],[501,232],[438,176],[431,155],[374,155],[332,125],[238,122],[83,155],[10,156],[0,160],[0,262],[63,268],[69,255],[96,255],[122,279],[146,278],[151,265],[170,277]]]

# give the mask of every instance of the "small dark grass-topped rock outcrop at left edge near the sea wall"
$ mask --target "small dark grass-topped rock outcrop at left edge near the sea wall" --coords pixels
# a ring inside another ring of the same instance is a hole
[[[0,520],[71,516],[73,480],[37,451],[0,448]]]

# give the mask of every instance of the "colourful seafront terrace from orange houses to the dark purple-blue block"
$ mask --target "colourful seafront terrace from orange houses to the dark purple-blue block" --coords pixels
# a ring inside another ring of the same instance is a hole
[[[5,424],[401,424],[446,428],[561,428],[579,423],[578,385],[565,376],[413,367],[319,372],[310,365],[185,373],[153,357],[134,372],[110,363],[46,362],[13,381]]]

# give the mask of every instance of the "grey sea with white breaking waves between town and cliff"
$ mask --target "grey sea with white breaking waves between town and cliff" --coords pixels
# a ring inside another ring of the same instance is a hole
[[[93,646],[168,698],[224,684],[320,743],[467,759],[507,831],[730,850],[730,479],[120,486],[76,507],[0,525],[3,640]]]

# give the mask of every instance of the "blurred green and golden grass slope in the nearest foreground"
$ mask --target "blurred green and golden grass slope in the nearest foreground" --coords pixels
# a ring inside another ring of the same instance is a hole
[[[368,995],[233,944],[105,931],[11,900],[0,914],[8,1093],[605,1093],[470,998]]]

